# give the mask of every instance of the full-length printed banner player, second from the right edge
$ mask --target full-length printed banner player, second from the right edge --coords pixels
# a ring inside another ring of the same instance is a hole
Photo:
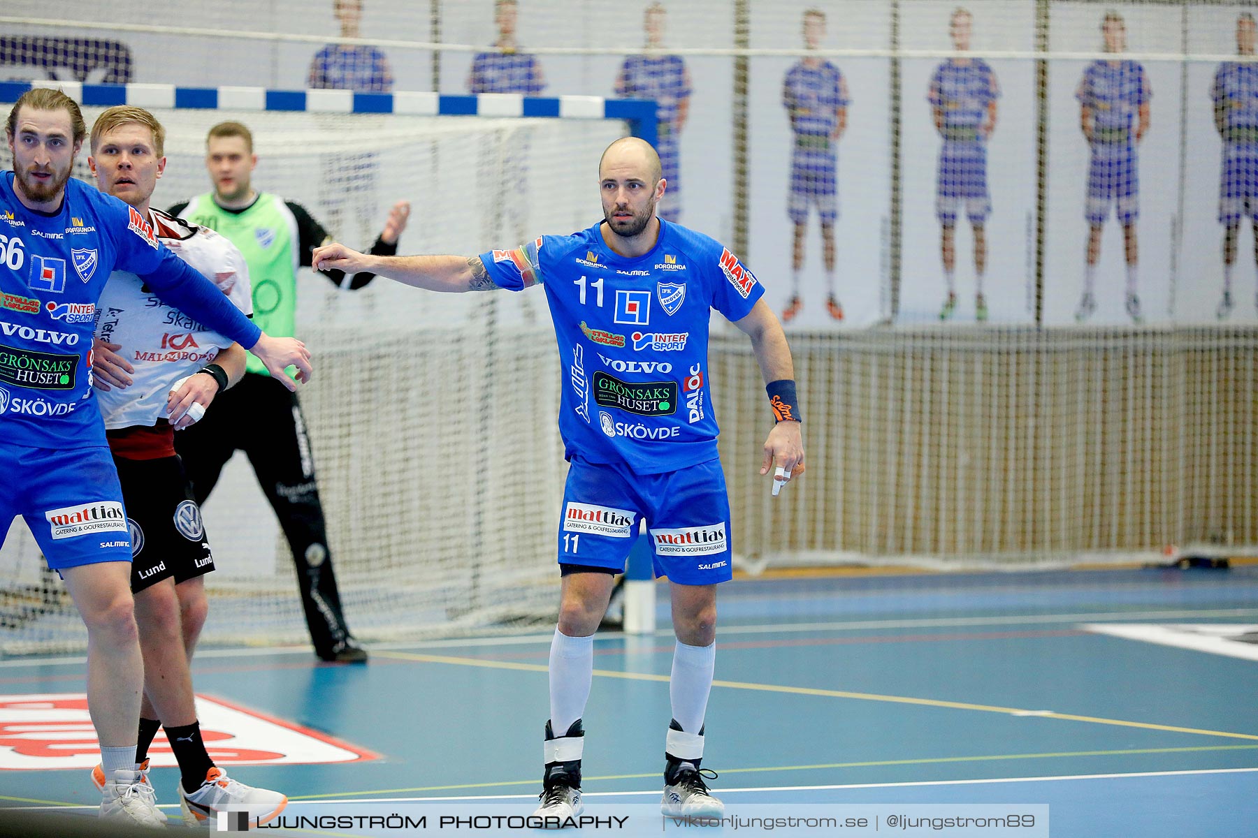
[[[1105,50],[1117,55],[1127,48],[1127,28],[1122,15],[1106,14],[1101,23]],[[1122,225],[1127,258],[1127,314],[1140,323],[1140,294],[1136,284],[1136,219],[1140,217],[1140,178],[1136,146],[1149,131],[1149,79],[1136,62],[1112,58],[1088,64],[1074,94],[1079,101],[1079,126],[1092,150],[1088,162],[1088,196],[1084,217],[1088,221],[1087,264],[1083,270],[1083,297],[1074,319],[1084,322],[1096,310],[1097,261],[1101,259],[1101,232],[1110,207]]]

